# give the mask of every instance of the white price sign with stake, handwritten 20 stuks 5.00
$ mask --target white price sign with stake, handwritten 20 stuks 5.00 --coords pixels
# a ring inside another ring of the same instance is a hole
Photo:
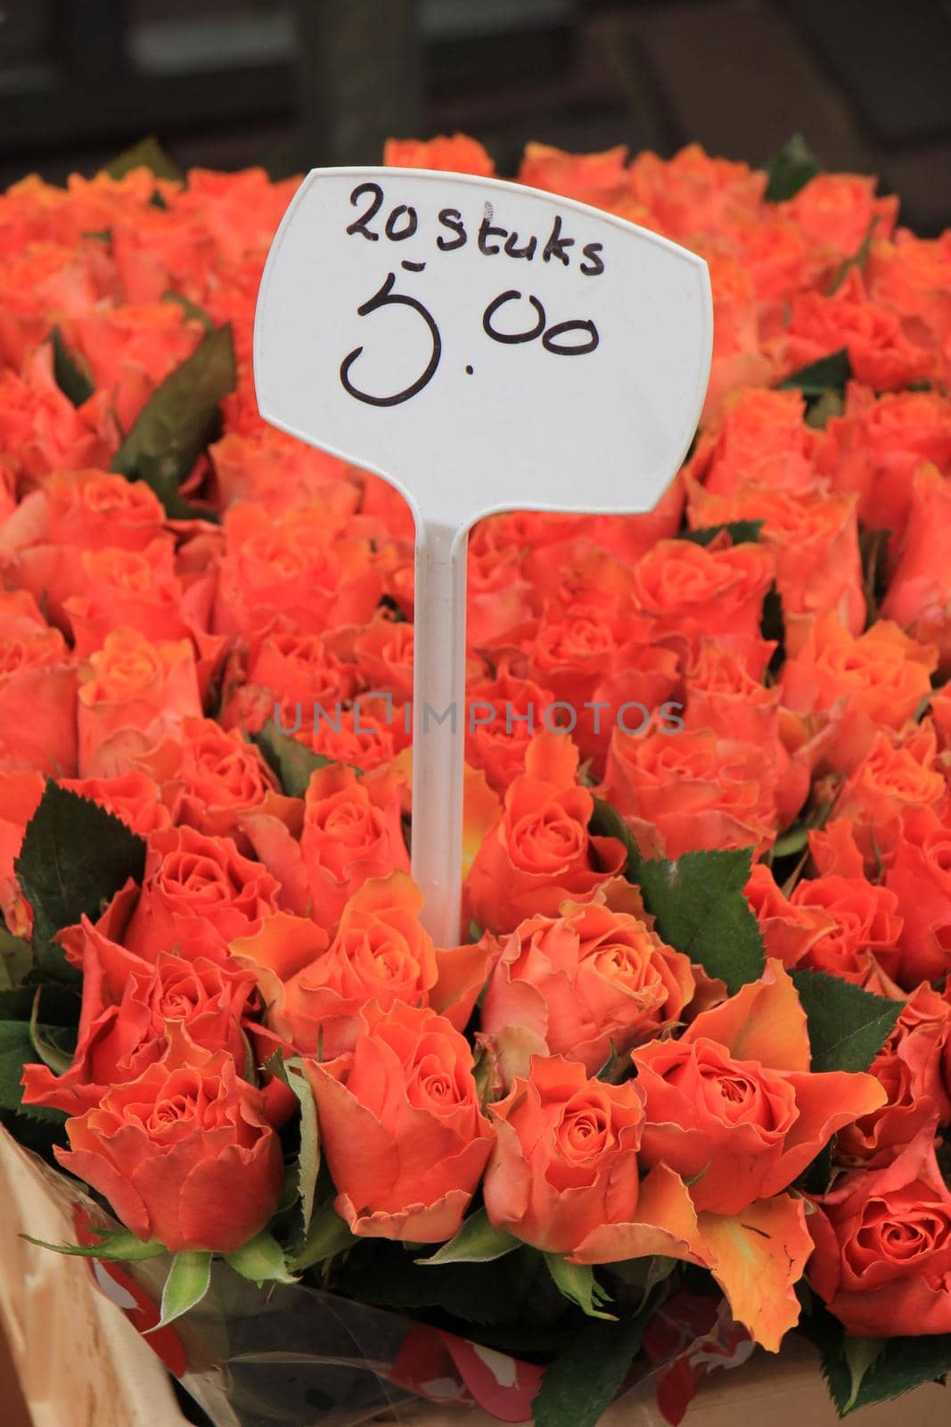
[[[318,168],[277,233],[261,414],[391,481],[416,519],[412,855],[443,945],[459,936],[465,535],[493,511],[650,509],[693,438],[711,340],[701,258],[518,184]],[[426,706],[455,716],[423,728]]]

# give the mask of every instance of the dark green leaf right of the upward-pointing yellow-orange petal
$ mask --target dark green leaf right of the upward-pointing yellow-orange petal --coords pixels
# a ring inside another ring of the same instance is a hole
[[[867,1070],[904,1002],[875,996],[826,972],[793,972],[793,983],[806,1012],[813,1070]]]

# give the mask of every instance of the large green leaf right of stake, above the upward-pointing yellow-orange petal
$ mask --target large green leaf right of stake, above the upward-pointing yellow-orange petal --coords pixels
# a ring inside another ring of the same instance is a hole
[[[721,976],[727,990],[757,980],[766,965],[763,938],[743,888],[750,878],[749,848],[684,852],[676,862],[642,860],[637,880],[657,935]]]

